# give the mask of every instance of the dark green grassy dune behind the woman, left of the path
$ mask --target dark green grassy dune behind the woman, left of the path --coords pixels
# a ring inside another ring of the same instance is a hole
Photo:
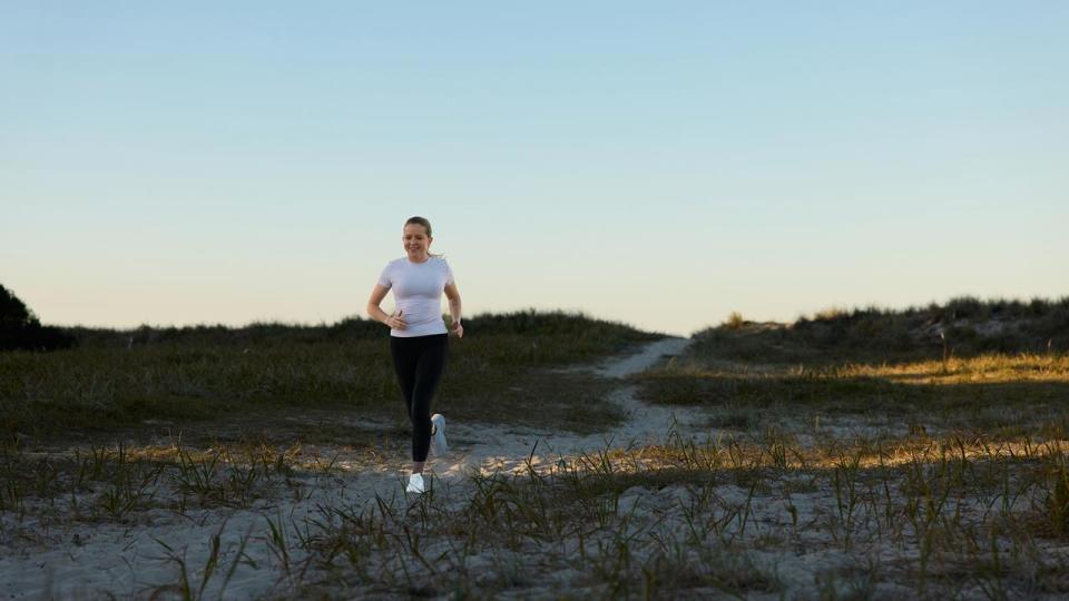
[[[559,418],[561,427],[577,430],[615,423],[604,400],[608,385],[560,374],[573,385],[548,394],[541,371],[594,362],[657,337],[560,312],[477,315],[464,327],[468,335],[451,342],[438,407],[481,420]],[[388,331],[367,319],[69,332],[76,348],[0,353],[4,432],[49,434],[272,407],[403,415]],[[538,413],[530,411],[536,405]]]

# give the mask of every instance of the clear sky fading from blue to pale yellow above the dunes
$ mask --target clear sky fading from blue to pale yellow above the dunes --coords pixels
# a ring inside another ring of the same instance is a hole
[[[0,2],[0,284],[334,322],[423,215],[467,313],[680,334],[1069,294],[1069,3]]]

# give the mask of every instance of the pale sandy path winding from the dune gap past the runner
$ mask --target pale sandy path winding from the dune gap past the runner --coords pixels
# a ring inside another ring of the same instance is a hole
[[[650,343],[638,353],[587,368],[592,375],[622,378],[684,351],[688,341],[667,338]],[[611,400],[625,411],[622,425],[598,435],[580,436],[567,432],[516,428],[500,425],[450,423],[451,453],[432,460],[435,491],[463,502],[463,492],[474,472],[514,470],[536,451],[532,463],[546,465],[563,454],[591,452],[632,442],[661,440],[674,421],[687,424],[680,410],[648,406],[635,396],[635,387],[621,386]],[[536,447],[537,444],[537,447]],[[330,457],[336,450],[320,449]],[[149,510],[128,516],[124,523],[90,522],[69,515],[69,510],[33,512],[19,519],[12,512],[0,513],[0,591],[3,599],[98,599],[148,598],[160,584],[179,580],[179,565],[168,554],[182,558],[194,590],[204,579],[212,550],[212,538],[219,538],[219,570],[235,564],[243,539],[245,560],[237,562],[225,589],[227,599],[255,599],[279,594],[291,579],[284,561],[268,544],[268,520],[283,524],[284,535],[293,541],[296,528],[318,516],[323,506],[367,506],[376,496],[391,502],[403,497],[404,475],[398,470],[401,457],[385,465],[340,457],[342,473],[297,473],[288,489],[273,499],[257,500],[247,509],[188,510],[184,515],[170,510]],[[173,495],[161,485],[158,497]],[[168,552],[164,546],[174,550]],[[290,546],[293,546],[292,543]],[[291,565],[303,559],[297,552]],[[224,577],[208,580],[205,599],[216,599]]]

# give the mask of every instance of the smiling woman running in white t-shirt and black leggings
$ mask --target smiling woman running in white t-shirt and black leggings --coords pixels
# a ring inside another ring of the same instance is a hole
[[[434,455],[445,451],[445,417],[431,415],[431,398],[445,368],[449,331],[442,319],[442,292],[449,298],[452,331],[463,337],[460,325],[460,293],[453,272],[440,255],[432,255],[431,223],[412,217],[404,223],[404,257],[391,260],[371,290],[367,315],[390,326],[390,353],[404,408],[412,422],[412,475],[405,489],[423,493],[423,464],[433,446]],[[393,289],[396,309],[388,315],[379,306]],[[433,442],[433,445],[431,444]]]

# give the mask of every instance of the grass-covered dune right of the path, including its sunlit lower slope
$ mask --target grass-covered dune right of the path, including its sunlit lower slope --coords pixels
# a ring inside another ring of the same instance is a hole
[[[1023,424],[1008,416],[1023,411],[1069,424],[1069,298],[837,309],[791,325],[733,314],[694,339],[685,357],[639,376],[641,394],[708,407],[717,427],[894,415],[1012,435]]]

